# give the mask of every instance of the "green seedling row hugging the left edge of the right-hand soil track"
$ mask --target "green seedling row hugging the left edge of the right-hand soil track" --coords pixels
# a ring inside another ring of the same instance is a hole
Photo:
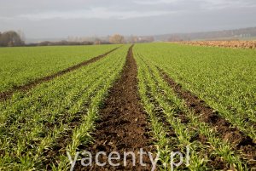
[[[141,57],[143,58],[143,57]],[[195,117],[193,111],[189,109],[183,103],[183,100],[177,98],[177,96],[172,92],[170,88],[160,77],[160,73],[154,64],[150,61],[147,61],[148,71],[145,71],[148,75],[149,84],[154,92],[153,97],[158,101],[160,109],[166,114],[166,120],[172,125],[175,129],[176,134],[178,134],[178,139],[180,145],[189,145],[189,143],[196,144],[197,148],[201,148],[199,156],[203,156],[206,150],[204,149],[201,143],[196,141],[190,142],[193,139],[193,136],[196,134],[201,134],[207,138],[207,143],[204,143],[205,148],[207,148],[208,158],[215,156],[220,157],[223,162],[229,163],[229,168],[236,168],[238,170],[247,170],[246,162],[241,162],[241,157],[232,150],[231,145],[226,141],[218,138],[214,129],[210,128],[207,123],[201,123],[198,117]],[[189,119],[189,123],[183,124],[178,115],[180,112],[185,114],[185,117]],[[193,148],[195,149],[195,147]],[[190,167],[195,169],[195,166],[198,166],[200,169],[206,169],[205,166],[198,165],[200,161],[209,161],[207,155],[197,161],[190,163]],[[195,163],[194,163],[195,162]],[[199,169],[196,168],[196,169]],[[190,168],[191,169],[191,168]],[[193,170],[192,169],[192,170]]]

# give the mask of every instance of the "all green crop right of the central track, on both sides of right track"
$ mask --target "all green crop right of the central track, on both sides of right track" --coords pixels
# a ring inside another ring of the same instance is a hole
[[[180,145],[192,145],[195,160],[189,165],[191,170],[211,168],[214,157],[235,164],[239,170],[246,169],[242,160],[247,154],[236,149],[236,142],[227,142],[228,133],[221,136],[211,123],[201,123],[201,116],[177,97],[161,78],[159,70],[166,71],[183,88],[205,100],[219,117],[255,142],[256,51],[155,43],[137,45],[134,54],[140,66],[140,94],[155,125],[153,132],[163,153],[163,162],[167,162],[165,154],[168,151],[175,151]],[[158,116],[159,111],[165,115],[171,130],[160,122],[163,116]],[[185,122],[183,117],[186,117]],[[174,132],[177,137],[166,139],[169,132]],[[206,140],[193,140],[198,134]]]

